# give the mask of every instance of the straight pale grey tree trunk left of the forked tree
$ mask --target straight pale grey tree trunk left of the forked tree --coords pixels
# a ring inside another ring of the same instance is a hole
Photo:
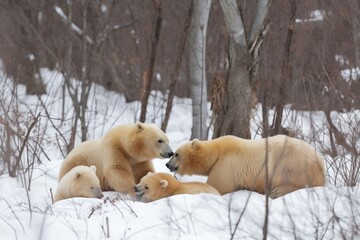
[[[207,139],[207,86],[205,48],[211,0],[194,0],[189,31],[189,77],[191,81],[192,119],[191,138]]]

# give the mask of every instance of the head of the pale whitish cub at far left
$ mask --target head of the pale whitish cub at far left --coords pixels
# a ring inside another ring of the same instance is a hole
[[[71,171],[70,195],[72,197],[102,198],[99,178],[95,166],[77,166]]]

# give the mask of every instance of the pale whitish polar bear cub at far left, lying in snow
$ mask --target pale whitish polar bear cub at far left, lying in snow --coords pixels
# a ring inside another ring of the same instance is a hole
[[[54,203],[73,197],[102,198],[99,178],[95,166],[76,166],[60,180]]]

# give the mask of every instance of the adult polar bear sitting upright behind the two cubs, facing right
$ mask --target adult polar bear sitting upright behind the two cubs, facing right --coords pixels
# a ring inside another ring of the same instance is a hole
[[[134,196],[135,184],[148,172],[154,172],[151,160],[172,155],[167,136],[156,125],[120,125],[102,138],[76,146],[61,165],[59,181],[76,166],[94,165],[103,191]]]

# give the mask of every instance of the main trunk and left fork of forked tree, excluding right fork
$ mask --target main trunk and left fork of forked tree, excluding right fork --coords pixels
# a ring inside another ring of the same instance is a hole
[[[232,134],[249,138],[252,91],[245,28],[236,0],[220,0],[228,30],[229,67],[225,76],[222,112],[216,117],[214,137]],[[217,136],[218,135],[218,136]]]

